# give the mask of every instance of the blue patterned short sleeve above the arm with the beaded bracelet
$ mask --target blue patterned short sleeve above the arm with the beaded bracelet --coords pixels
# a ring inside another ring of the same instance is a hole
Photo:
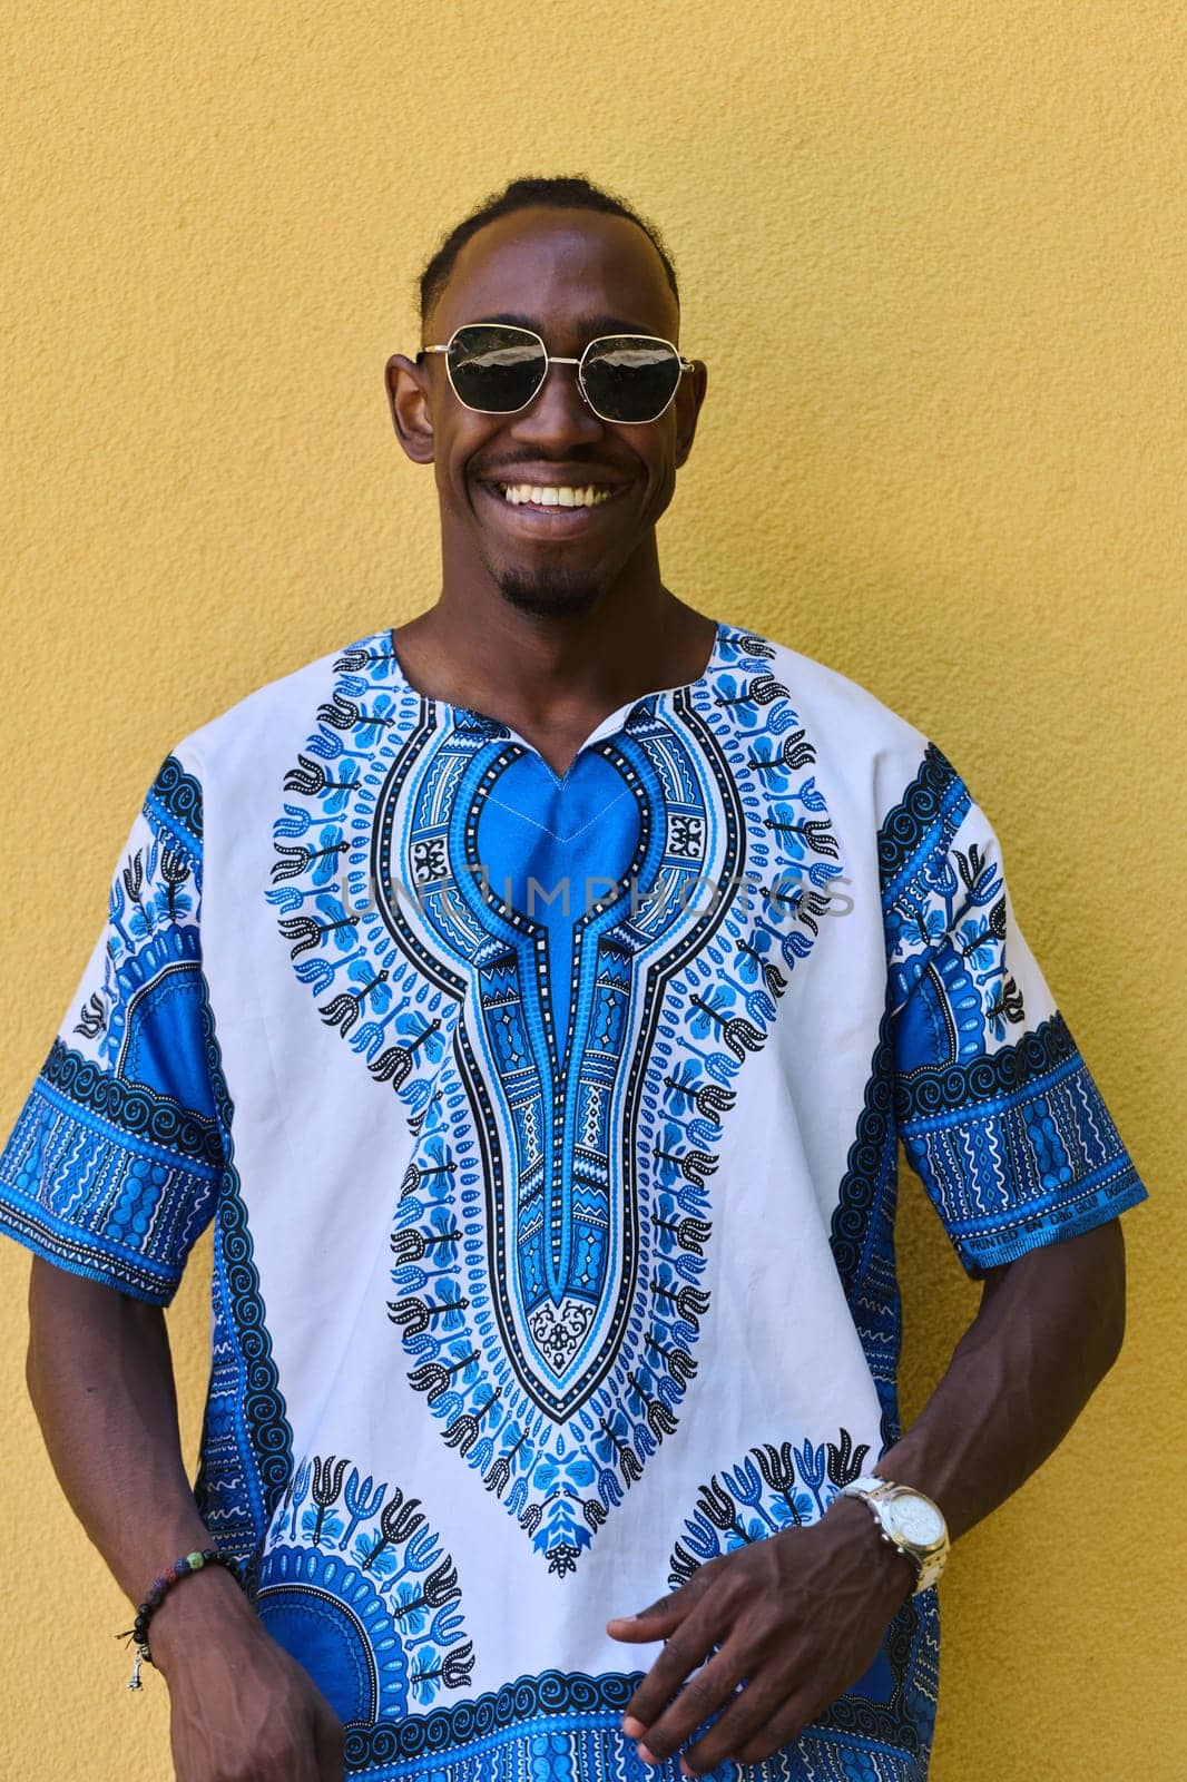
[[[201,786],[169,754],[0,1155],[0,1231],[153,1304],[176,1292],[223,1165],[200,912]]]

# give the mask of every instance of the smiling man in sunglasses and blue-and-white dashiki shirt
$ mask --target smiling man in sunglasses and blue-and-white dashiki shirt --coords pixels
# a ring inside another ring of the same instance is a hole
[[[1146,1190],[936,743],[665,588],[654,230],[515,182],[422,299],[440,595],[169,752],[4,1153],[50,1454],[132,1602],[244,1566],[137,1620],[182,1782],[921,1778]],[[898,1139],[984,1283],[905,1435]]]

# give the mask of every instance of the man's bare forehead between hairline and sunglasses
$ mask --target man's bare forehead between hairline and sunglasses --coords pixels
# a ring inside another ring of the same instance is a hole
[[[533,317],[553,349],[565,330],[581,331],[592,317],[613,315],[668,340],[679,328],[649,237],[627,217],[599,210],[515,210],[467,241],[430,312],[435,339],[504,314]]]

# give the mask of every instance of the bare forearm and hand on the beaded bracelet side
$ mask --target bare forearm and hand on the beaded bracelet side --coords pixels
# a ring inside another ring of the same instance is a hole
[[[61,1486],[135,1604],[178,1554],[210,1545],[185,1477],[164,1313],[34,1258],[27,1379]],[[333,1709],[228,1572],[171,1590],[150,1645],[169,1684],[178,1782],[340,1782]]]

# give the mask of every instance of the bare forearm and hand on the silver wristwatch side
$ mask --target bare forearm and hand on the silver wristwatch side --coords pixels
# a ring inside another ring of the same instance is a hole
[[[936,1392],[872,1470],[925,1492],[959,1538],[1059,1445],[1123,1333],[1116,1219],[993,1269]],[[725,1759],[759,1762],[868,1670],[913,1584],[911,1563],[854,1499],[834,1500],[811,1527],[706,1561],[672,1595],[608,1623],[615,1639],[667,1641],[627,1704],[624,1730],[654,1759],[683,1752],[686,1773]]]

